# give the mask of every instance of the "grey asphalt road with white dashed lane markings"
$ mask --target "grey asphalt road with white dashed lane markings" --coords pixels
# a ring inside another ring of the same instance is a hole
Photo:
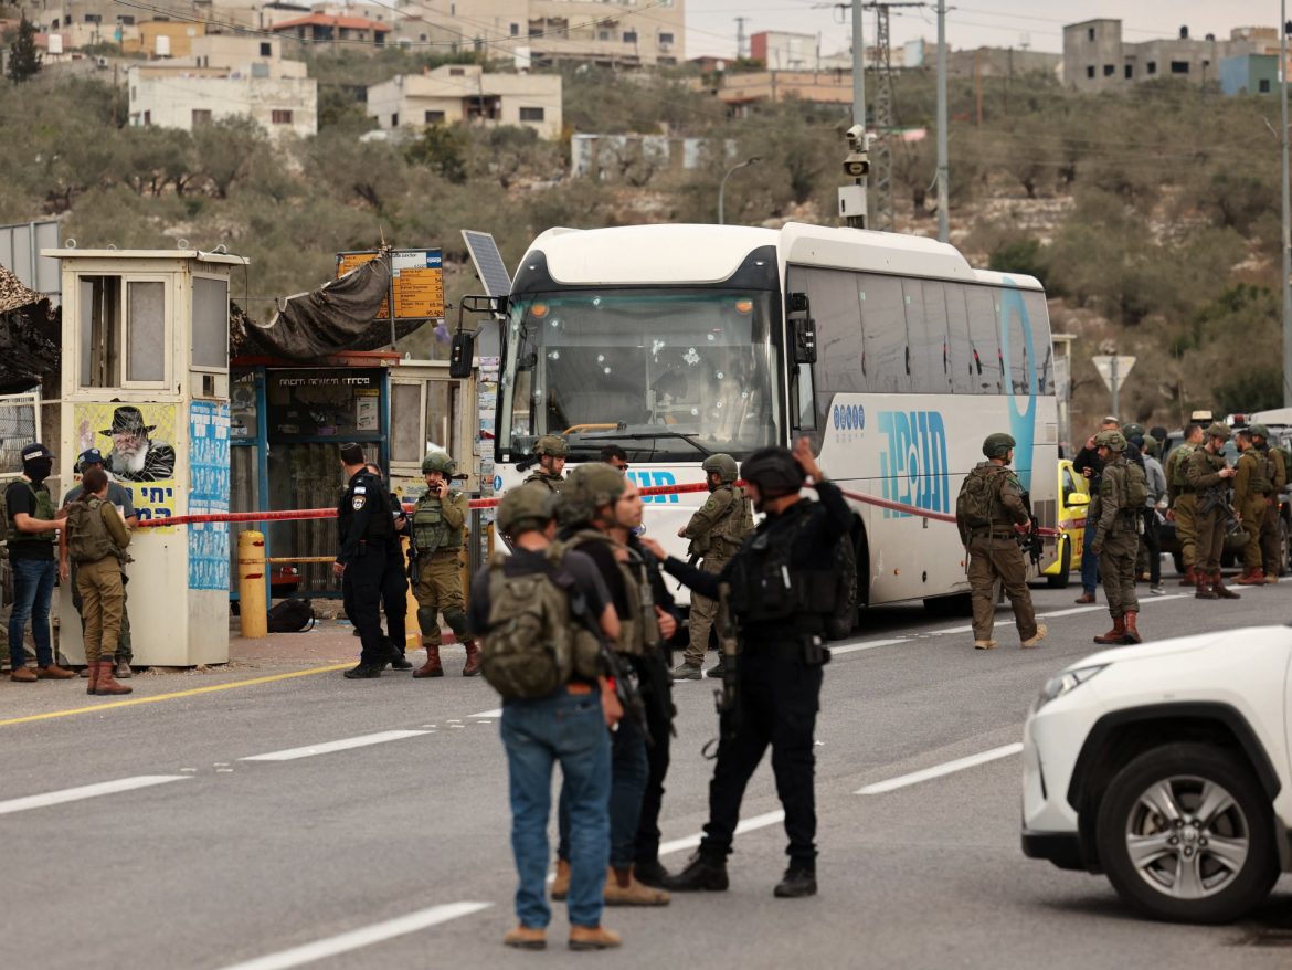
[[[784,837],[764,764],[745,798],[731,890],[607,911],[623,951],[581,960],[1058,970],[1151,954],[1163,966],[1287,967],[1289,877],[1240,925],[1169,926],[1133,917],[1101,877],[1019,852],[1012,746],[1041,683],[1097,649],[1090,636],[1109,625],[1102,607],[1074,607],[1075,592],[1034,590],[1050,636],[1026,652],[1008,608],[992,652],[972,649],[964,620],[916,607],[870,613],[826,670],[820,894],[771,896]],[[1292,582],[1239,603],[1189,592],[1145,590],[1145,635],[1292,617]],[[500,944],[514,876],[499,705],[482,680],[456,675],[460,657],[448,653],[450,676],[429,682],[389,671],[346,682],[329,670],[194,695],[183,678],[137,678],[128,700],[142,704],[0,683],[3,965],[566,965],[563,908],[547,953]],[[685,861],[705,819],[712,688],[676,689],[667,865]],[[48,692],[39,704],[37,689]],[[36,707],[44,717],[30,717]],[[85,790],[106,782],[124,790]]]

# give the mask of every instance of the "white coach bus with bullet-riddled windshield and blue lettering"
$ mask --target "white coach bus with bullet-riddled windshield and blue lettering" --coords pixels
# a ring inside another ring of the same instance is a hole
[[[742,460],[806,435],[842,489],[898,506],[850,498],[860,604],[965,596],[959,534],[935,516],[953,516],[995,431],[1017,440],[1014,467],[1053,528],[1045,295],[932,239],[802,224],[550,229],[513,282],[501,488],[545,433],[567,436],[571,464],[620,445],[640,485],[702,482],[708,454]],[[682,552],[676,533],[703,499],[650,499],[649,532]],[[1054,559],[1048,539],[1041,566]]]

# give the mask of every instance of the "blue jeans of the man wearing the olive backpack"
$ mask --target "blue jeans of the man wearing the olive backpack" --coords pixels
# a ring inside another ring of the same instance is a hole
[[[570,695],[503,704],[503,746],[512,788],[512,852],[519,883],[516,914],[522,926],[552,920],[547,900],[548,819],[552,766],[561,763],[562,801],[574,824],[570,857],[572,926],[599,926],[610,847],[610,732],[601,696]]]

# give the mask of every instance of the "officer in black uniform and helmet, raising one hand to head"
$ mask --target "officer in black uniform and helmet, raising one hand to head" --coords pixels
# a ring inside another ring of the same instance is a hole
[[[724,726],[709,782],[709,823],[686,869],[664,881],[686,892],[727,887],[740,801],[762,754],[771,746],[776,793],[786,810],[789,867],[775,887],[780,898],[817,892],[817,808],[813,789],[813,729],[820,701],[826,620],[835,610],[835,544],[848,535],[853,513],[826,481],[808,438],[791,453],[764,447],[745,459],[742,477],[766,517],[717,576],[668,557],[664,569],[695,592],[717,599],[730,586],[740,635],[739,693],[734,722]],[[800,494],[808,477],[819,502]],[[643,544],[652,547],[651,541]],[[656,555],[663,550],[651,548]]]

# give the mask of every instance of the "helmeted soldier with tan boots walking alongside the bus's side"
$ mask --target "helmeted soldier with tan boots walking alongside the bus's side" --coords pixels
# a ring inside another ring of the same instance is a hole
[[[995,585],[999,577],[1014,608],[1014,623],[1023,647],[1035,647],[1045,636],[1032,610],[1027,590],[1027,568],[1016,532],[1031,523],[1023,504],[1023,486],[1009,469],[1014,460],[1014,440],[1009,435],[988,435],[981,462],[960,486],[956,499],[956,526],[960,542],[969,552],[969,588],[973,595],[973,645],[990,651],[996,645]]]

